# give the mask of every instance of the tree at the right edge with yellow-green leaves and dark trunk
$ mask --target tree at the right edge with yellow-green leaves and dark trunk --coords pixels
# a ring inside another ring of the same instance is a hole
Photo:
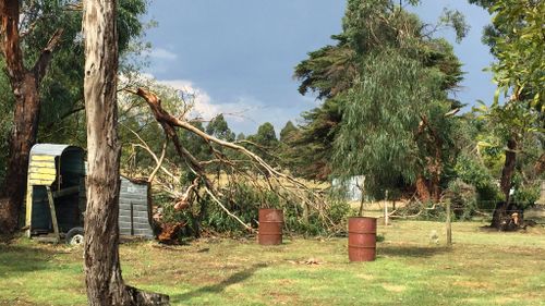
[[[501,131],[499,138],[505,147],[505,163],[500,188],[505,201],[494,211],[493,227],[499,227],[507,218],[510,189],[513,187],[516,164],[521,142],[528,133],[543,133],[545,127],[544,76],[545,2],[534,0],[470,0],[488,10],[492,24],[485,27],[483,41],[496,58],[491,66],[498,88],[489,108],[482,109],[488,121],[495,124],[493,132]],[[507,98],[499,102],[500,94]],[[536,169],[545,160],[545,154],[536,157]]]

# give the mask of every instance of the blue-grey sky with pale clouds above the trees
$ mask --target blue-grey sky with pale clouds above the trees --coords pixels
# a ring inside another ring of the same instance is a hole
[[[153,45],[147,73],[165,84],[198,95],[197,110],[205,119],[226,114],[237,133],[255,133],[264,122],[279,130],[288,120],[318,101],[301,96],[293,68],[306,53],[332,44],[340,33],[343,0],[155,0],[147,19]],[[443,8],[458,9],[471,25],[455,51],[467,72],[457,98],[489,101],[495,86],[482,70],[492,62],[481,42],[489,21],[481,8],[464,0],[424,0],[411,9],[425,22],[438,19]],[[439,33],[453,42],[453,33]]]

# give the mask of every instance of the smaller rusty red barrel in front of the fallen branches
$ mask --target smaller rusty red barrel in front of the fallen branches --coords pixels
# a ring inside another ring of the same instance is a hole
[[[262,245],[282,243],[283,211],[281,209],[259,209],[259,234],[257,240]]]

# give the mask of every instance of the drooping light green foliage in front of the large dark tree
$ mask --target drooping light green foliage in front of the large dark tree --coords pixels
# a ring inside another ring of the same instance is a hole
[[[415,142],[419,123],[443,94],[432,77],[417,61],[395,50],[368,58],[361,81],[348,94],[351,102],[344,106],[335,142],[339,174],[365,174],[366,189],[377,195],[393,187],[400,176],[415,181],[423,162]],[[415,86],[414,79],[421,85]]]

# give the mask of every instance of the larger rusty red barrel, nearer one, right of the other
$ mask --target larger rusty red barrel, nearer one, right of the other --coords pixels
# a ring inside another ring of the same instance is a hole
[[[376,218],[348,219],[348,257],[350,261],[373,261],[376,256]]]

